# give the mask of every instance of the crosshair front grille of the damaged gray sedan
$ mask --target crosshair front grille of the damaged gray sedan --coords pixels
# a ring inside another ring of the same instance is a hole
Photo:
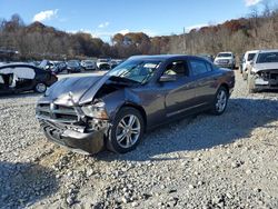
[[[61,123],[75,123],[79,121],[78,113],[73,107],[54,103],[39,103],[37,106],[37,116],[44,120],[54,120]]]

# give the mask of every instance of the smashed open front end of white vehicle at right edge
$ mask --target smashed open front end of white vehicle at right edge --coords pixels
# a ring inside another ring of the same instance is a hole
[[[249,90],[278,89],[278,69],[260,70],[249,74]]]

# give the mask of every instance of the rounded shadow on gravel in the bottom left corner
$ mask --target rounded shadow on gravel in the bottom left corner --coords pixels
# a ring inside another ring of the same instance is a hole
[[[0,161],[0,208],[26,208],[58,190],[52,170],[34,163]]]

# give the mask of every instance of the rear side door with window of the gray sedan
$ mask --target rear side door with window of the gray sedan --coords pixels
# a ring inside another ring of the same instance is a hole
[[[198,58],[190,58],[189,66],[195,82],[196,104],[210,104],[217,91],[219,72],[210,62]]]

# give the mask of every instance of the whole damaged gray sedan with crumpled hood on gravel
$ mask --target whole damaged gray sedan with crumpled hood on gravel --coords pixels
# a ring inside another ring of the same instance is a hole
[[[234,71],[199,57],[131,57],[102,77],[68,78],[48,89],[37,118],[51,141],[73,151],[125,153],[145,131],[188,115],[221,115]]]

